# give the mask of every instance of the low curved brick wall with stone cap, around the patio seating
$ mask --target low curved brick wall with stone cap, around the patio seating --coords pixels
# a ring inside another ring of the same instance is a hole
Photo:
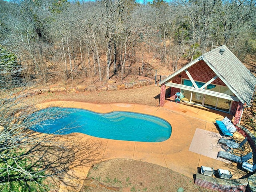
[[[256,163],[256,137],[239,124],[236,125],[236,128],[240,134],[247,137],[247,141],[252,148],[253,163]],[[255,180],[256,173],[248,178],[234,180],[212,178],[198,173],[196,174],[195,184],[223,192],[256,192]]]

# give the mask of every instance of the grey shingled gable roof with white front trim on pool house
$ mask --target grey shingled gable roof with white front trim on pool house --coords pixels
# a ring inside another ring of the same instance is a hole
[[[223,54],[220,54],[220,49],[224,49]],[[242,64],[242,62],[225,45],[202,54],[194,61],[188,63],[180,70],[159,82],[159,84],[164,84],[166,81],[172,80],[175,76],[190,68],[200,60],[206,62],[206,64],[243,104],[248,106],[252,104],[256,86],[256,77],[250,73],[244,64]]]

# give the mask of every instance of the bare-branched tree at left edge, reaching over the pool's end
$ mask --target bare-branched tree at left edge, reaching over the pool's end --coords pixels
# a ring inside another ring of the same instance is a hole
[[[26,95],[16,94],[24,86],[16,78],[17,74],[21,75],[22,68],[16,66],[17,56],[14,51],[6,50],[2,46],[0,48],[0,67],[5,68],[0,71],[0,190],[48,191],[50,186],[43,180],[60,180],[70,165],[76,161],[74,156],[78,151],[74,148],[81,143],[67,145],[66,137],[32,131],[36,126],[47,127],[43,124],[45,120],[60,118],[66,114],[45,110],[39,115],[36,108],[32,107],[34,102],[25,102]],[[12,75],[5,76],[6,72]],[[65,130],[66,127],[61,130],[62,133]],[[88,141],[81,146],[83,148],[78,147],[80,153],[87,155],[83,162],[78,163],[84,164],[99,157],[99,143]]]

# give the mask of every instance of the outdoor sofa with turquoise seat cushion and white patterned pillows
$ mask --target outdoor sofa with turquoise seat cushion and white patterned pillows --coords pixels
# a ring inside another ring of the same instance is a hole
[[[224,119],[215,119],[216,124],[224,136],[232,137],[236,131],[236,127],[232,124],[231,120],[227,117]]]

